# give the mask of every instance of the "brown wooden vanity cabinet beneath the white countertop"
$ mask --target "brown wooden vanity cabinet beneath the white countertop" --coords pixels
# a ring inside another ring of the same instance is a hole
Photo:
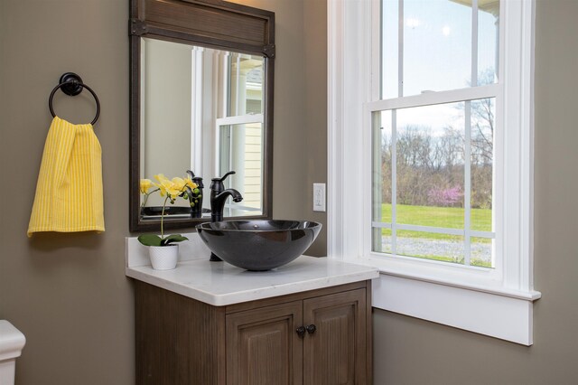
[[[135,281],[136,383],[371,383],[370,281],[212,306]]]

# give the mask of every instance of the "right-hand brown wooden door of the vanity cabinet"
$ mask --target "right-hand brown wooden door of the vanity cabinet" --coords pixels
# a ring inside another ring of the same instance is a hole
[[[367,383],[366,310],[365,289],[303,301],[304,385]]]

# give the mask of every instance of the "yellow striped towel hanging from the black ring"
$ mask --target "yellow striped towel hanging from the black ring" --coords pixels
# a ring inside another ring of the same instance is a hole
[[[54,117],[46,137],[28,237],[105,230],[100,143],[92,125]]]

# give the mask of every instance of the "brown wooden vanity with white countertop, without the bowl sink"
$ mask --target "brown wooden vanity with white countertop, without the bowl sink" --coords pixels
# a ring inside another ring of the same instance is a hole
[[[300,257],[131,266],[138,384],[370,384],[376,268]]]

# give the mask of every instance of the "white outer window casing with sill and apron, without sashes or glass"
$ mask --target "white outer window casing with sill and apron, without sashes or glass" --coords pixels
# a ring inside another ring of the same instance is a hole
[[[378,10],[378,0],[328,0],[328,255],[379,268],[375,307],[531,345],[533,301],[541,296],[533,286],[535,0],[500,5],[500,83],[490,87],[502,92],[497,124],[508,129],[494,148],[504,192],[494,197],[503,214],[495,223],[503,258],[494,269],[370,253],[370,111],[387,103],[369,103],[378,99]]]

